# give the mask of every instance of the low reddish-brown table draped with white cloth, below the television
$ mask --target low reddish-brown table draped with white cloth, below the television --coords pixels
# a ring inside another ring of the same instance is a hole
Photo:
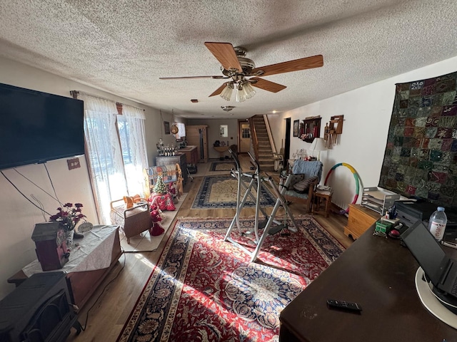
[[[94,226],[90,232],[84,233],[84,239],[76,240],[81,248],[71,250],[69,262],[63,268],[54,270],[67,272],[71,299],[80,309],[122,254],[117,226]],[[100,247],[103,244],[106,248]],[[42,272],[39,261],[34,260],[11,276],[8,282],[19,286],[31,274],[39,272]]]

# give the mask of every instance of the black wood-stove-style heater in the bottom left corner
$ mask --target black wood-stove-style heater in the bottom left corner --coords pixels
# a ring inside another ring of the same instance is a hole
[[[33,274],[0,301],[1,342],[65,341],[81,332],[64,272]]]

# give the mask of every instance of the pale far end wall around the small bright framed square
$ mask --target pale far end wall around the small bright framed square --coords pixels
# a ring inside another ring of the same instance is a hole
[[[214,150],[213,144],[216,140],[229,142],[229,145],[238,145],[238,120],[237,119],[189,119],[187,125],[207,125],[208,131],[208,157],[219,158],[220,153]],[[221,125],[229,126],[229,137],[221,138],[219,129]],[[226,155],[230,155],[226,152]]]

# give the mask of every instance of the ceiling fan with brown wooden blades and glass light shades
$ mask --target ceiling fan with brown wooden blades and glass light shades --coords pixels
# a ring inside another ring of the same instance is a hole
[[[276,75],[277,73],[290,73],[291,71],[300,71],[304,69],[319,68],[323,66],[322,55],[316,55],[306,58],[294,59],[283,63],[271,64],[256,68],[255,63],[246,58],[246,48],[235,47],[231,43],[206,42],[206,48],[221,63],[221,71],[224,76],[181,76],[181,77],[161,77],[161,80],[176,80],[189,78],[231,78],[211,93],[211,96],[221,95],[224,100],[230,100],[231,93],[236,90],[236,101],[243,102],[255,95],[256,91],[252,86],[263,90],[278,93],[286,88],[278,83],[266,81],[262,76]],[[247,78],[251,77],[251,78]]]

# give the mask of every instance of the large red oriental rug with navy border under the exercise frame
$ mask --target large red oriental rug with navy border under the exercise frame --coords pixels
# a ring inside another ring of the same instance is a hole
[[[117,341],[278,341],[281,310],[343,252],[311,216],[296,222],[250,263],[223,241],[231,219],[180,218]]]

